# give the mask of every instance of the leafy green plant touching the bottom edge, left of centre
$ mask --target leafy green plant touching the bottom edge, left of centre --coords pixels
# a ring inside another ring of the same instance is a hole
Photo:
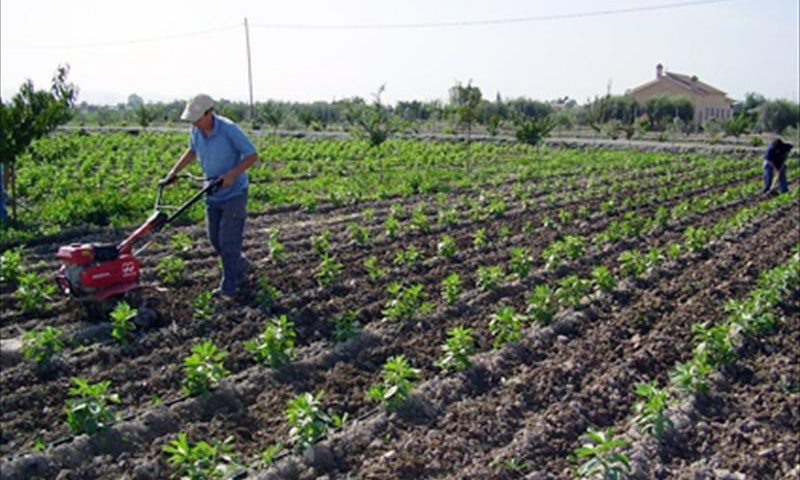
[[[186,434],[164,445],[162,452],[169,455],[169,464],[175,470],[174,477],[188,480],[210,480],[229,478],[239,468],[233,454],[233,437],[211,443],[200,440],[189,443]]]

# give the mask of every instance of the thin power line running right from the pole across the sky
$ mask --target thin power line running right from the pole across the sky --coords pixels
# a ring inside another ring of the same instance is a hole
[[[661,5],[651,5],[646,7],[617,8],[612,10],[596,10],[591,12],[564,13],[558,15],[539,15],[533,17],[500,18],[490,20],[465,20],[453,22],[433,22],[433,23],[382,23],[382,24],[301,24],[301,23],[272,23],[272,24],[251,24],[253,28],[269,28],[276,30],[399,30],[399,29],[420,29],[420,28],[452,28],[452,27],[480,27],[491,25],[503,25],[509,23],[529,23],[544,22],[554,20],[568,20],[575,18],[602,17],[619,15],[625,13],[648,12],[654,10],[669,10],[673,8],[693,7],[698,5],[708,5],[712,3],[732,2],[736,0],[698,0],[693,2],[667,3]]]

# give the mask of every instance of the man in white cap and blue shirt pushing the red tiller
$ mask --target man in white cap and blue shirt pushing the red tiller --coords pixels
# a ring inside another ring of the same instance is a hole
[[[245,171],[257,160],[253,143],[231,120],[214,113],[214,101],[205,94],[189,100],[181,120],[192,122],[189,148],[165,178],[169,182],[195,159],[207,179],[222,178],[221,187],[206,197],[208,239],[222,258],[222,281],[215,296],[233,297],[250,268],[242,253],[247,217]]]

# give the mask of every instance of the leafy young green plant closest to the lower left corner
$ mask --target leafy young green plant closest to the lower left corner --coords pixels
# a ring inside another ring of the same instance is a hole
[[[74,386],[70,387],[72,398],[66,400],[67,425],[73,433],[92,434],[108,427],[116,418],[109,408],[111,403],[119,403],[117,394],[106,393],[111,382],[89,383],[83,378],[72,377]]]

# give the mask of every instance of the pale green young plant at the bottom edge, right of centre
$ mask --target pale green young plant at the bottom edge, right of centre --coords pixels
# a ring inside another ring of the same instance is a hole
[[[589,428],[584,435],[586,443],[575,449],[573,462],[583,462],[575,471],[578,478],[603,478],[622,480],[630,472],[630,461],[621,449],[630,441],[614,436],[614,429],[598,431]]]

